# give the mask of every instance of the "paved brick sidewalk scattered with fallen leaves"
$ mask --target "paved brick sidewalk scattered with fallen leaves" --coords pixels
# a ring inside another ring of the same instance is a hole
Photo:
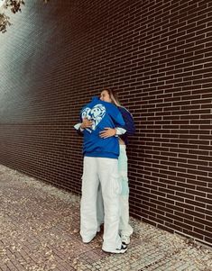
[[[212,271],[212,248],[131,220],[124,255],[79,236],[79,197],[0,166],[1,271]]]

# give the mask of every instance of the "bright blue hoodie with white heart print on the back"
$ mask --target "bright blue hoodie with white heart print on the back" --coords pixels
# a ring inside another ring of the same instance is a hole
[[[80,113],[81,122],[83,118],[92,120],[93,126],[83,131],[83,155],[97,158],[118,158],[119,144],[117,137],[102,139],[99,132],[106,127],[115,128],[124,126],[122,114],[114,104],[101,101],[94,97],[92,101],[84,106]]]

